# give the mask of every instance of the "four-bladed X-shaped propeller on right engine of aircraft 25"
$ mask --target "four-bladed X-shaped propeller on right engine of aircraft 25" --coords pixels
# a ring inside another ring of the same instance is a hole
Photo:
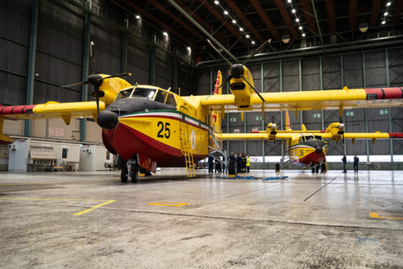
[[[243,75],[245,70],[243,69],[243,66],[245,65],[245,63],[247,63],[252,57],[254,57],[258,52],[260,52],[260,50],[262,50],[262,48],[264,48],[268,43],[270,43],[271,39],[265,41],[264,43],[262,43],[262,45],[260,45],[260,47],[255,50],[255,52],[253,54],[251,54],[251,56],[249,56],[243,63],[240,63],[238,61],[238,59],[236,58],[232,58],[234,59],[237,63],[231,63],[230,61],[227,60],[227,58],[224,57],[223,54],[221,54],[221,52],[216,48],[216,46],[214,46],[214,44],[209,41],[209,39],[207,39],[207,42],[209,42],[210,46],[212,48],[214,48],[214,50],[216,50],[216,52],[218,54],[220,54],[221,57],[223,57],[223,59],[225,60],[225,62],[228,64],[228,66],[230,66],[229,68],[229,76],[227,77],[227,79],[225,79],[225,81],[218,87],[221,88],[223,87],[228,81],[230,81],[231,79],[239,79],[242,78],[255,92],[256,94],[258,94],[258,97],[260,97],[260,99],[262,100],[263,103],[267,103],[266,100],[262,97],[262,95],[260,95],[260,93],[254,88],[254,86],[251,85],[251,83],[249,83],[249,81],[247,81],[247,79],[245,78],[245,76]],[[230,55],[231,56],[231,55]],[[214,94],[216,90],[214,90],[213,92],[211,92],[211,94]],[[209,96],[207,98],[209,98],[211,96],[211,94],[209,94]],[[207,99],[206,98],[206,99]]]

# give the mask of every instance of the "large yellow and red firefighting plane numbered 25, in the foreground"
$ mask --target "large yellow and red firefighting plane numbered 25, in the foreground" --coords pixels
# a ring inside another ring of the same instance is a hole
[[[268,42],[266,42],[268,43]],[[262,46],[254,54],[256,54]],[[254,56],[251,55],[251,57]],[[77,117],[94,117],[102,128],[105,147],[118,155],[121,180],[138,180],[138,169],[155,172],[156,166],[186,166],[209,154],[212,133],[220,133],[225,112],[279,110],[342,110],[366,107],[403,106],[402,88],[323,90],[258,93],[251,72],[244,63],[231,64],[224,83],[214,94],[180,96],[157,86],[130,85],[119,76],[91,74],[96,101],[0,107],[0,141],[12,143],[2,134],[4,119],[45,119],[61,117],[66,124]],[[229,82],[231,94],[221,94]],[[77,85],[77,84],[74,84]],[[99,112],[100,111],[100,112]],[[247,138],[247,137],[245,137]],[[189,174],[188,174],[189,175]]]

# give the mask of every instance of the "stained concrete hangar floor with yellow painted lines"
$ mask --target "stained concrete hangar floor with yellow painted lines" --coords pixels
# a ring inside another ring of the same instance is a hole
[[[0,268],[403,268],[403,171],[1,172]]]

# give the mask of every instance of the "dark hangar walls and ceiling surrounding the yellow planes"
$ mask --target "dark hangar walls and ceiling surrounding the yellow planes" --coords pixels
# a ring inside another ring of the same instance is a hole
[[[0,103],[94,100],[88,74],[132,72],[130,83],[180,88],[181,95],[209,94],[225,61],[208,45],[198,23],[240,60],[260,43],[269,46],[249,61],[260,92],[382,88],[403,84],[402,1],[1,1]],[[177,6],[177,7],[175,7]],[[264,10],[264,12],[261,12]],[[183,12],[189,12],[191,18]],[[225,14],[224,12],[228,12]],[[298,19],[298,21],[296,21]],[[234,20],[234,21],[232,21]],[[235,23],[234,23],[235,22]],[[243,28],[239,30],[238,28]],[[94,62],[90,59],[90,42]],[[253,42],[253,43],[252,43]],[[225,92],[229,92],[225,86]],[[349,132],[402,132],[402,108],[345,110]],[[290,111],[291,126],[324,130],[338,111]],[[225,114],[223,132],[264,130],[284,112]],[[64,128],[55,137],[48,128]],[[8,121],[16,137],[101,143],[91,120]],[[227,152],[245,152],[258,162],[278,162],[286,146],[270,141],[224,141]],[[329,161],[358,155],[398,168],[400,140],[328,143]],[[259,167],[256,163],[256,167]],[[368,166],[371,168],[371,166]]]

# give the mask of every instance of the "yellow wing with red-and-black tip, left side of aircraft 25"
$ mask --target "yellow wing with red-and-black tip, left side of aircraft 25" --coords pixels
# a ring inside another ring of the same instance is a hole
[[[105,110],[105,103],[99,102],[99,111]],[[57,103],[49,101],[39,105],[1,106],[0,118],[3,119],[54,119],[62,118],[67,125],[71,118],[96,119],[96,101]]]

